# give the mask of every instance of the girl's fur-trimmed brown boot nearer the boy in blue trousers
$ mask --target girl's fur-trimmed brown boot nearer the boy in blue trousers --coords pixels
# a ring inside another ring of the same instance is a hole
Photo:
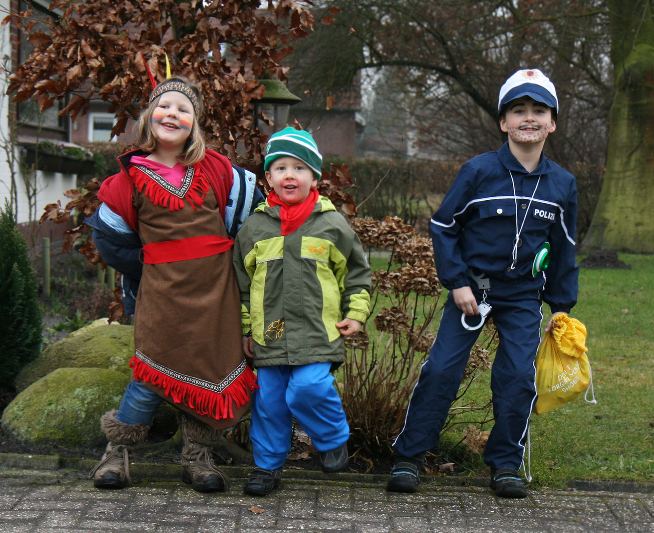
[[[228,491],[230,478],[211,459],[211,443],[221,432],[192,418],[182,419],[182,481],[200,493]]]

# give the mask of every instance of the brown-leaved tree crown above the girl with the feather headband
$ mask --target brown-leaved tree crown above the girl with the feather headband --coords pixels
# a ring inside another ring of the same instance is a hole
[[[265,140],[253,127],[250,105],[264,93],[257,78],[284,80],[288,67],[281,60],[313,28],[309,0],[260,5],[260,0],[54,0],[50,10],[63,15],[49,21],[49,34],[32,31],[30,11],[10,14],[4,24],[21,24],[35,48],[10,76],[8,92],[16,101],[34,99],[41,111],[70,98],[60,114],[73,121],[88,111],[91,99],[103,99],[116,113],[111,133],[118,135],[138,117],[152,90],[144,59],[161,82],[167,54],[173,74],[198,83],[203,93],[209,144],[236,162],[237,143],[243,143],[245,159],[256,162]]]

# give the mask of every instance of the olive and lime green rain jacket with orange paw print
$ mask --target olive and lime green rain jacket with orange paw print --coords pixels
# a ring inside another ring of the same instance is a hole
[[[243,334],[252,331],[254,366],[342,363],[343,317],[370,314],[370,265],[353,229],[329,199],[283,236],[279,206],[260,204],[236,237]]]

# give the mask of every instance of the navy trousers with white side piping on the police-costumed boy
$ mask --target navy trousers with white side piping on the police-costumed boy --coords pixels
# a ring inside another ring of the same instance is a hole
[[[473,288],[473,293],[477,302],[481,301],[481,291]],[[538,290],[500,283],[493,283],[487,291],[487,302],[492,306],[500,345],[490,378],[495,423],[484,460],[493,468],[517,470],[523,462],[529,416],[536,402],[534,359],[540,344],[542,302]],[[476,325],[479,317],[470,317],[468,323]],[[449,293],[436,341],[409,400],[404,428],[393,443],[396,451],[413,457],[438,444],[480,332],[461,325],[461,311]]]

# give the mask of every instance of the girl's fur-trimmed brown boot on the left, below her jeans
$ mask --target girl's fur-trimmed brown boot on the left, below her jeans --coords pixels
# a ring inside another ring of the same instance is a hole
[[[122,489],[131,485],[129,477],[129,452],[141,444],[148,434],[143,424],[126,424],[116,419],[115,409],[107,411],[100,419],[100,427],[107,435],[107,448],[99,464],[88,475],[97,489]]]

